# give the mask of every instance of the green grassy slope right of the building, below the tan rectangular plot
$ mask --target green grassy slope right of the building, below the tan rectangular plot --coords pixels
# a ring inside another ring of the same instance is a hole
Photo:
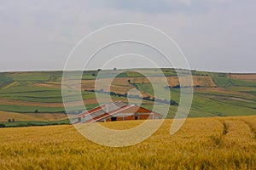
[[[157,84],[154,84],[157,87]],[[160,88],[160,87],[159,87]],[[150,83],[138,84],[138,89],[146,94],[153,94],[153,88]],[[165,93],[165,89],[162,90]],[[179,89],[171,89],[172,99],[179,102]],[[238,99],[236,99],[236,97]],[[198,93],[195,92],[190,117],[207,117],[207,116],[239,116],[239,115],[255,115],[256,100],[251,102],[247,100],[239,100],[244,95],[236,94],[220,94],[217,92]],[[247,98],[246,98],[247,99]],[[144,105],[148,109],[152,106]],[[170,106],[169,116],[172,118],[177,111],[177,107]]]

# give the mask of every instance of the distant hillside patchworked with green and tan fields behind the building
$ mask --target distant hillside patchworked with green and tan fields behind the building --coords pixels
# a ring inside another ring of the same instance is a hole
[[[156,86],[164,78],[153,69],[143,70],[148,71]],[[179,82],[175,70],[162,71],[170,85],[170,88],[163,88],[163,92],[170,90],[172,99],[179,103],[179,88],[175,88]],[[192,74],[195,95],[190,117],[256,115],[256,74],[206,71],[192,71]],[[95,92],[92,91],[96,75],[97,71],[86,71],[82,77],[82,94],[88,109],[97,105]],[[61,71],[0,73],[0,122],[8,122],[9,119],[15,119],[15,122],[67,119],[61,98],[61,77]],[[112,99],[127,102],[124,94],[131,88],[140,90],[143,97],[154,97],[148,78],[127,70],[113,80]],[[143,100],[144,107],[150,109],[152,105],[153,101]],[[171,105],[168,117],[172,118],[176,110],[177,105]]]

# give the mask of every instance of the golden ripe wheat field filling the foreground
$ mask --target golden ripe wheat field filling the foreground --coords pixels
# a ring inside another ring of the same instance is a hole
[[[141,121],[107,122],[113,129]],[[1,169],[256,169],[256,116],[189,118],[174,135],[172,120],[142,143],[95,144],[71,125],[0,128]]]

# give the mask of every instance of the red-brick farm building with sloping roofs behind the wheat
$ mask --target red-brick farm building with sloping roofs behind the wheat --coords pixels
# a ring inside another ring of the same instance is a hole
[[[127,105],[118,101],[85,111],[79,114],[77,118],[77,123],[84,123],[162,119],[163,116],[138,105]]]

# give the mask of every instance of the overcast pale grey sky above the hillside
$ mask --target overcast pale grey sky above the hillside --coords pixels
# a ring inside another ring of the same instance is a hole
[[[255,16],[255,0],[0,0],[0,71],[63,70],[90,32],[140,23],[172,37],[193,70],[256,72]]]

